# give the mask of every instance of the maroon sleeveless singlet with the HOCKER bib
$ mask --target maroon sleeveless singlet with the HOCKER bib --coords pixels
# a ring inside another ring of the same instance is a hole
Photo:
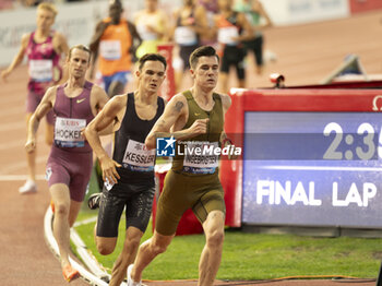
[[[55,112],[55,145],[70,152],[92,152],[92,147],[81,135],[81,130],[94,118],[91,107],[93,83],[85,82],[82,93],[76,97],[68,97],[62,84],[57,87]]]

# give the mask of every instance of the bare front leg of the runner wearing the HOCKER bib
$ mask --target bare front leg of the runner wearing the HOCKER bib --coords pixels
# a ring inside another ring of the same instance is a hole
[[[55,183],[50,186],[49,191],[55,203],[53,235],[60,251],[61,266],[64,267],[70,264],[69,187],[64,183]]]

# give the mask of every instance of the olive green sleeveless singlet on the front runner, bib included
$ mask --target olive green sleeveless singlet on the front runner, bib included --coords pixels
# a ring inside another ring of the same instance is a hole
[[[171,169],[176,172],[182,172],[188,175],[206,175],[215,174],[218,166],[218,156],[215,155],[187,155],[184,148],[193,148],[205,146],[219,146],[220,134],[224,126],[224,114],[220,95],[214,93],[213,99],[215,102],[214,108],[211,111],[205,111],[196,104],[191,91],[183,92],[184,97],[189,106],[189,118],[183,127],[190,128],[196,119],[208,118],[207,132],[200,134],[184,142],[177,142],[176,148],[182,154],[176,153]],[[178,147],[179,145],[179,147]],[[186,156],[184,156],[186,155]]]

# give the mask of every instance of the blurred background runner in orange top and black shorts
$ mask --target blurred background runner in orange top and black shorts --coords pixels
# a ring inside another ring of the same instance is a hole
[[[235,67],[237,87],[246,87],[243,40],[254,37],[251,24],[244,13],[232,10],[232,0],[218,0],[219,14],[215,16],[220,62],[220,87],[228,93],[229,68]]]

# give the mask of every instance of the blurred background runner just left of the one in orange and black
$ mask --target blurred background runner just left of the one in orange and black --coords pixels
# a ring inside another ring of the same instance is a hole
[[[201,45],[201,36],[210,35],[207,14],[195,0],[183,0],[183,5],[174,13],[175,25],[170,33],[179,48],[178,61],[174,62],[175,84],[179,91],[184,71],[190,69],[189,57]]]

